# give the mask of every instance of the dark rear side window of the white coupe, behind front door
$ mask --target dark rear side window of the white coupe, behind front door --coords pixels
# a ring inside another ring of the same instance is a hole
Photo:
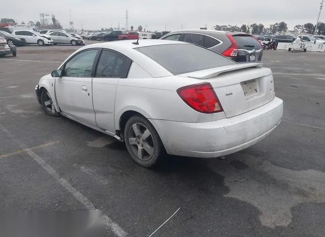
[[[103,50],[95,77],[126,78],[132,61],[122,54]]]

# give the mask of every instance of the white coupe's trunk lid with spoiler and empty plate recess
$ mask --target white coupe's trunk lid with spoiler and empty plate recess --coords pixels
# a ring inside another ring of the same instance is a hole
[[[263,64],[239,64],[180,76],[210,82],[226,117],[258,108],[274,99],[272,72]]]

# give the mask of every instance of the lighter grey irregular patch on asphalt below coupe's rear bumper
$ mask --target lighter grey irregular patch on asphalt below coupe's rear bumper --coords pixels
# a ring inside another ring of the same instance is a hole
[[[224,177],[233,197],[256,206],[265,226],[288,226],[291,208],[304,202],[325,202],[325,173],[317,170],[295,171],[275,166],[259,157],[240,153],[241,160],[215,159],[207,166]]]

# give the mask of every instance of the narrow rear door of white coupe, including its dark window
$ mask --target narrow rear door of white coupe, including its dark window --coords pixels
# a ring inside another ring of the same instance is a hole
[[[120,78],[126,78],[132,61],[116,52],[103,49],[92,79],[93,108],[97,126],[115,133],[115,93]]]

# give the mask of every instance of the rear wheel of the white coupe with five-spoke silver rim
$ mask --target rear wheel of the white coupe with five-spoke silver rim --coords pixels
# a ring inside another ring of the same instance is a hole
[[[126,122],[124,140],[129,155],[139,165],[152,168],[162,159],[165,151],[163,142],[144,117],[134,115]]]

